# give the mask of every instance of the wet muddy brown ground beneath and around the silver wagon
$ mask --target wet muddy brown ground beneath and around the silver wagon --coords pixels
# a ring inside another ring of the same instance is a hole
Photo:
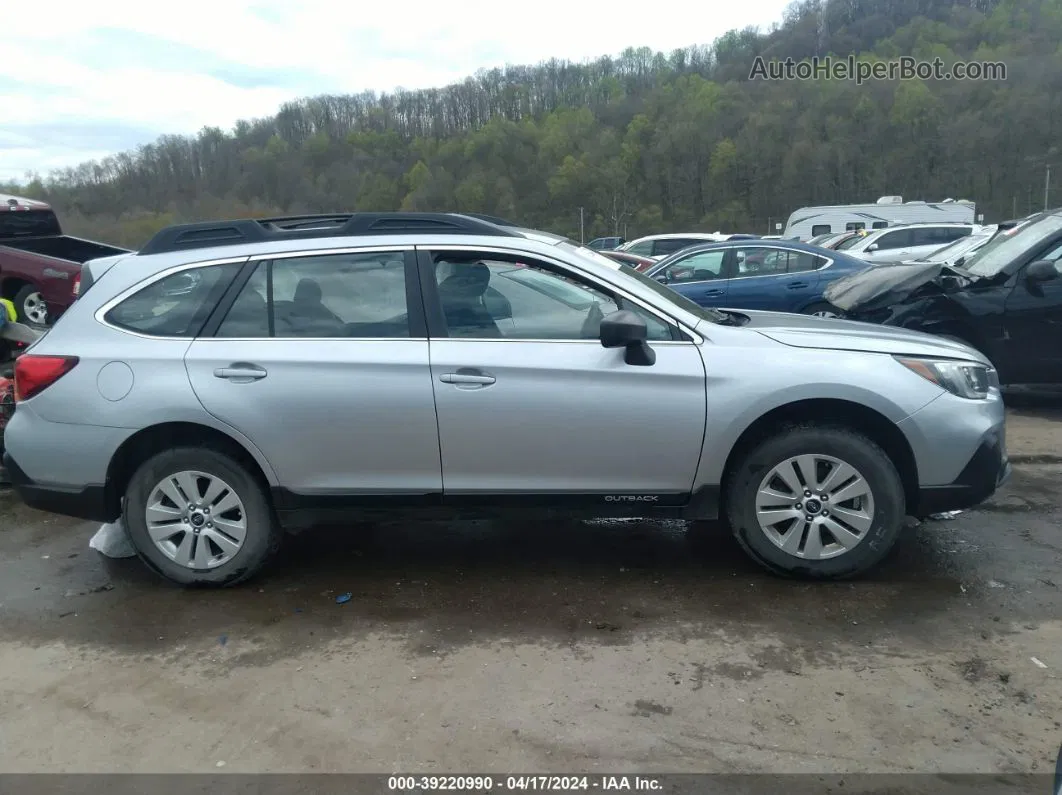
[[[191,592],[0,495],[0,771],[1047,773],[1058,405],[1015,399],[1012,482],[845,584],[681,523],[465,523]]]

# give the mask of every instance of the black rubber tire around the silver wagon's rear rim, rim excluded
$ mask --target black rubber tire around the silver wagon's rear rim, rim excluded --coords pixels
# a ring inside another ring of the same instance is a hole
[[[144,512],[151,491],[168,474],[195,470],[227,483],[243,503],[246,535],[243,546],[212,569],[182,566],[162,553],[148,533]],[[125,490],[123,518],[137,554],[149,568],[184,586],[226,587],[259,573],[280,547],[282,532],[266,496],[266,489],[247,467],[227,453],[209,448],[177,448],[158,453],[136,470]]]

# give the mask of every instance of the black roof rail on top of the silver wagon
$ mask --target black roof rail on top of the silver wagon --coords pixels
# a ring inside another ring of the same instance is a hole
[[[367,235],[482,235],[517,238],[503,228],[516,224],[490,215],[457,212],[340,212],[321,215],[238,219],[176,224],[160,229],[138,254],[165,254],[194,248],[264,243],[280,240],[313,240]]]

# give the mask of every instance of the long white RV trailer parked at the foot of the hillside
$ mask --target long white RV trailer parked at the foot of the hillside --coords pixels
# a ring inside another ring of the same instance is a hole
[[[973,224],[975,211],[976,205],[965,200],[905,202],[903,196],[881,196],[874,204],[802,207],[789,217],[782,237],[787,240],[810,240],[827,232],[884,229],[900,224]]]

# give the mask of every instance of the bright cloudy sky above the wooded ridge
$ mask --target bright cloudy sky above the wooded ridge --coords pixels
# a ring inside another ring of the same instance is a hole
[[[709,44],[781,21],[787,4],[16,0],[0,13],[0,180],[228,129],[298,97]]]

